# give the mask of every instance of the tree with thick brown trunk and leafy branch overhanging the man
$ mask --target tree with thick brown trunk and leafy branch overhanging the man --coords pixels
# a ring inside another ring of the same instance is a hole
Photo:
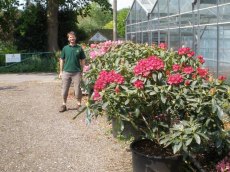
[[[56,51],[58,47],[58,10],[71,8],[77,14],[86,16],[89,12],[89,4],[96,2],[103,9],[109,9],[111,5],[107,0],[47,0],[48,22],[48,50]]]

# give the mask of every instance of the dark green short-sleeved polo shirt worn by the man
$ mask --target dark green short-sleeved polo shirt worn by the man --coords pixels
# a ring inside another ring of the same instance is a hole
[[[80,45],[66,45],[62,49],[61,59],[65,60],[65,72],[81,72],[80,60],[85,59],[85,53]]]

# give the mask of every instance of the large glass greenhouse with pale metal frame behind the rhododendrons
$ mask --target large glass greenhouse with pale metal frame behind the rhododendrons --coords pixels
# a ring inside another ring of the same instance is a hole
[[[230,0],[134,0],[126,40],[191,47],[216,75],[230,78]]]

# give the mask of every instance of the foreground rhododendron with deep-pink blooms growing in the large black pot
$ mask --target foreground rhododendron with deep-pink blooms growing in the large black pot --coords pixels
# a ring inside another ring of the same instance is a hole
[[[170,52],[160,45],[158,49],[158,54],[138,61],[133,68],[131,83],[137,92],[129,103],[139,112],[133,123],[155,144],[172,147],[173,154],[194,157],[213,149],[225,154],[229,149],[229,133],[223,130],[222,121],[223,102],[229,102],[226,78],[214,79],[202,66],[203,57],[194,57],[190,48]],[[168,171],[172,169],[173,165]]]

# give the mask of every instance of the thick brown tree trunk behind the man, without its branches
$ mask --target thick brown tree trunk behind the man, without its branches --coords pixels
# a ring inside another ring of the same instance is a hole
[[[48,50],[57,51],[58,47],[58,0],[48,0],[47,9]]]

